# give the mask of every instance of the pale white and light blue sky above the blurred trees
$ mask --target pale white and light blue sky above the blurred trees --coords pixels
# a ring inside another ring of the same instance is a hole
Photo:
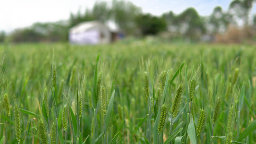
[[[11,32],[16,28],[30,26],[36,22],[67,20],[70,13],[82,13],[91,9],[97,0],[0,0],[0,31]],[[111,3],[112,0],[105,0]],[[126,0],[128,1],[128,0]],[[161,15],[164,12],[183,12],[194,7],[203,16],[209,15],[214,7],[228,10],[232,0],[129,0],[142,8],[142,12]],[[254,5],[251,15],[256,13]]]

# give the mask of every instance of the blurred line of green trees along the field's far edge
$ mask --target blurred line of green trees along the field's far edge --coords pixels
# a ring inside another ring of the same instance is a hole
[[[8,39],[12,42],[55,42],[67,41],[68,30],[85,21],[98,20],[104,24],[114,23],[124,30],[126,35],[146,36],[169,32],[172,37],[181,37],[199,41],[203,35],[214,36],[227,31],[229,25],[238,25],[256,31],[256,15],[252,23],[249,13],[256,0],[233,0],[227,12],[217,6],[209,16],[200,16],[194,8],[188,8],[180,14],[172,11],[161,16],[142,13],[141,8],[132,2],[113,0],[111,6],[105,1],[97,1],[91,10],[85,13],[71,13],[69,20],[54,23],[35,23],[30,27],[14,30]],[[6,39],[0,32],[0,42]]]

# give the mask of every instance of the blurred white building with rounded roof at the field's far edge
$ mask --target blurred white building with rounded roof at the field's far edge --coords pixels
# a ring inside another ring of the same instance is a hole
[[[98,21],[82,22],[69,30],[69,42],[71,44],[108,44],[122,37],[122,33],[111,31],[106,25]]]

